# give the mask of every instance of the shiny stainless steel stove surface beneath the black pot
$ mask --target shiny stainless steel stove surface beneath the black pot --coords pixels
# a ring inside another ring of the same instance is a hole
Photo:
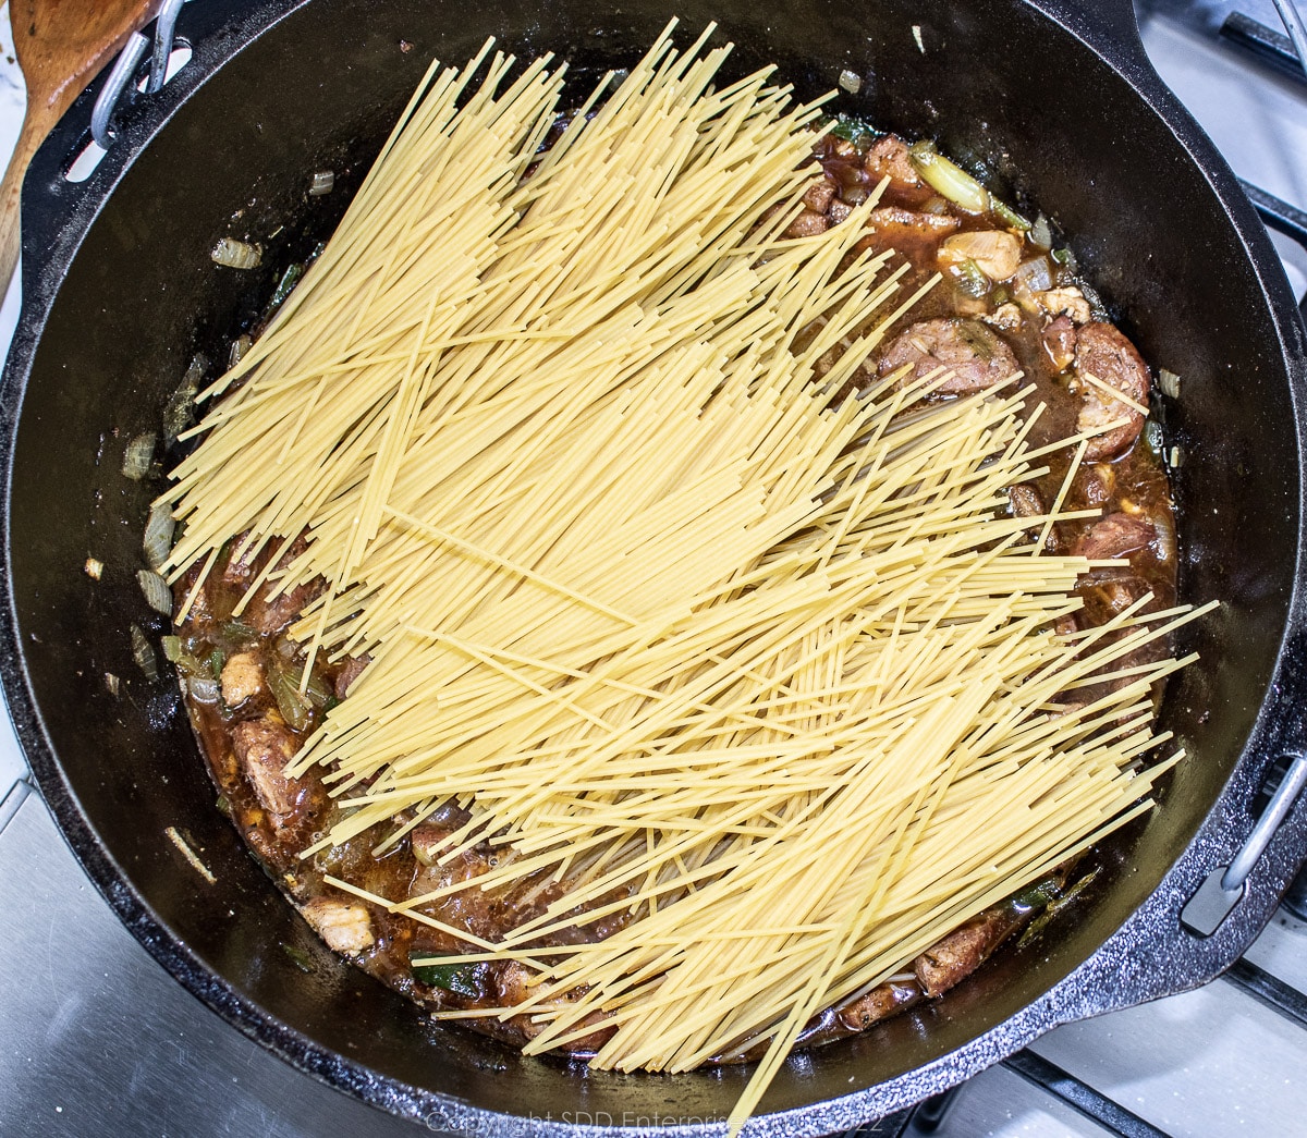
[[[1307,209],[1307,80],[1270,0],[1140,0],[1158,71],[1247,182]],[[0,42],[0,150],[22,86]],[[1298,218],[1299,223],[1302,218]],[[1281,219],[1294,227],[1294,217]],[[1304,231],[1307,235],[1307,231]],[[1277,236],[1299,297],[1307,250]],[[17,319],[0,308],[0,348]],[[0,1134],[412,1135],[246,1040],[82,875],[0,720]],[[1281,909],[1225,977],[1061,1027],[863,1135],[1307,1134],[1307,926]]]

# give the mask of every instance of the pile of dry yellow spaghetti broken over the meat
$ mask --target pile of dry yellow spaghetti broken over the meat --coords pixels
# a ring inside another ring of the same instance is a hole
[[[528,979],[450,1015],[620,1070],[762,1047],[737,1129],[816,1013],[1149,809],[1180,758],[1141,763],[1150,691],[1185,661],[1128,657],[1195,613],[1055,631],[1090,563],[1040,550],[1087,513],[1004,513],[1047,469],[1029,392],[868,376],[918,299],[863,248],[876,197],[783,236],[818,105],[718,86],[710,33],[669,27],[544,152],[562,68],[433,65],[166,500],[171,579],[203,567],[179,619],[237,538],[277,551],[248,597],[325,581],[301,691],[370,658],[286,768],[345,807],[306,856],[455,802],[439,858],[489,841],[480,877],[336,883],[429,922],[565,886],[460,937],[442,959]]]

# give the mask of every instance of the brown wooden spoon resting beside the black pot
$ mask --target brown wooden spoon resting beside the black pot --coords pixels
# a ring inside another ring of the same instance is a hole
[[[10,0],[14,54],[27,82],[27,112],[0,182],[0,294],[18,263],[18,199],[31,155],[105,63],[153,18],[159,3]]]

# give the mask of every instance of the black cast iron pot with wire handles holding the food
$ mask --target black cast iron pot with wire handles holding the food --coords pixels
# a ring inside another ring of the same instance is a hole
[[[1184,378],[1163,401],[1182,592],[1223,605],[1191,631],[1202,661],[1163,725],[1189,751],[1162,805],[1106,852],[1108,871],[1035,949],[936,1005],[796,1056],[753,1134],[851,1128],[980,1070],[1050,1027],[1189,988],[1233,962],[1307,851],[1289,813],[1209,937],[1180,922],[1303,740],[1304,336],[1265,233],[1210,142],[1148,65],[1127,0],[205,0],[183,10],[190,65],[118,118],[82,184],[64,172],[94,89],[31,166],[24,307],[0,413],[7,474],[4,687],[41,789],[124,924],[204,1002],[302,1070],[396,1114],[477,1134],[682,1121],[719,1130],[745,1070],[676,1078],[525,1060],[433,1026],[308,933],[227,821],[175,683],[148,679],[129,628],[165,619],[135,581],[158,483],[120,473],[158,430],[197,350],[216,357],[276,276],[323,239],[433,56],[488,34],[589,74],[638,57],[669,14],[718,20],[733,67],[780,64],[801,95],[861,77],[843,108],[984,162],[1073,235],[1145,357]],[[336,191],[307,197],[315,170]],[[267,247],[216,267],[222,235]],[[222,357],[225,358],[225,355]],[[257,461],[252,456],[251,461]],[[106,564],[102,580],[82,566]],[[115,695],[106,673],[120,678]],[[165,836],[191,835],[216,882]],[[278,946],[314,962],[305,975]],[[525,1121],[524,1121],[525,1120]]]

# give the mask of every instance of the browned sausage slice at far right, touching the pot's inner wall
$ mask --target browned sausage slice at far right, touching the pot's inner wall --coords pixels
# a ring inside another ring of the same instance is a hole
[[[1076,429],[1095,432],[1086,457],[1115,459],[1144,430],[1144,415],[1132,404],[1148,408],[1148,365],[1116,328],[1095,323],[1086,324],[1076,337],[1076,374],[1081,380]],[[1114,397],[1111,391],[1119,391],[1131,402]],[[1120,419],[1125,421],[1121,426],[1107,430],[1108,423]]]

